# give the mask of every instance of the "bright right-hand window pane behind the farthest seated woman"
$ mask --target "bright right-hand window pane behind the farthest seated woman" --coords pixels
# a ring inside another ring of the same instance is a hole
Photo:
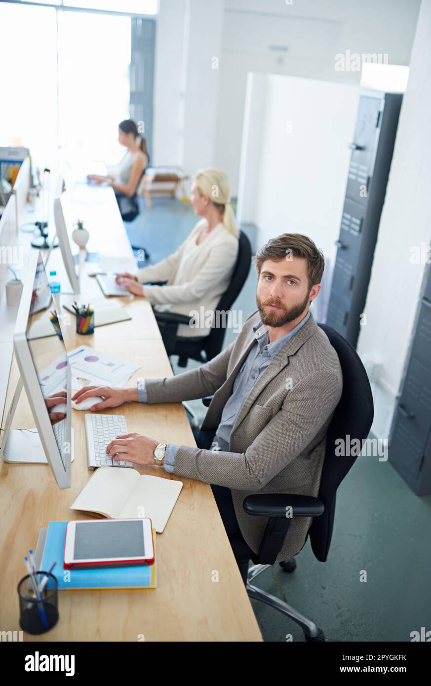
[[[115,163],[118,124],[129,116],[128,16],[58,12],[58,132],[69,161]]]

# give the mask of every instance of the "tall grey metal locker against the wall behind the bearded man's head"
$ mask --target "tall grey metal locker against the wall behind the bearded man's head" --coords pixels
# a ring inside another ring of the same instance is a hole
[[[326,323],[353,346],[360,330],[402,95],[362,88]]]

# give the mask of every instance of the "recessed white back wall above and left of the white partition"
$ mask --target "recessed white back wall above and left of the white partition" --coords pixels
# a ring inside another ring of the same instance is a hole
[[[234,195],[247,73],[359,84],[360,72],[336,71],[335,55],[347,49],[386,53],[391,64],[408,64],[419,5],[420,0],[226,0],[215,165],[229,175]]]

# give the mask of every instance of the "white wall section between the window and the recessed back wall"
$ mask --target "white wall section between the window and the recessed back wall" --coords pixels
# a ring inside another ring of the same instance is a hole
[[[224,0],[161,0],[152,164],[192,175],[214,164]]]

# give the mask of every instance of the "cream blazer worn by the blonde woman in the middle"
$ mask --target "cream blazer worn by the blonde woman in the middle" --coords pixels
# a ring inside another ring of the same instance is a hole
[[[199,318],[178,326],[178,336],[206,336],[211,330],[211,312],[231,283],[238,254],[238,239],[220,222],[196,245],[207,226],[200,220],[173,255],[137,272],[139,283],[166,281],[164,286],[148,285],[144,294],[158,311],[177,312]],[[202,316],[204,315],[204,316]]]

